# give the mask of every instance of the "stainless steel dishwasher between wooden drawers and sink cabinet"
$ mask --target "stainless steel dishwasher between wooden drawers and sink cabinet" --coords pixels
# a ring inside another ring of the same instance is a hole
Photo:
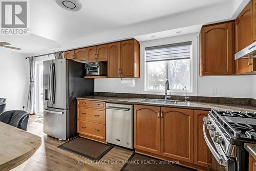
[[[106,142],[133,149],[133,105],[106,103]]]

